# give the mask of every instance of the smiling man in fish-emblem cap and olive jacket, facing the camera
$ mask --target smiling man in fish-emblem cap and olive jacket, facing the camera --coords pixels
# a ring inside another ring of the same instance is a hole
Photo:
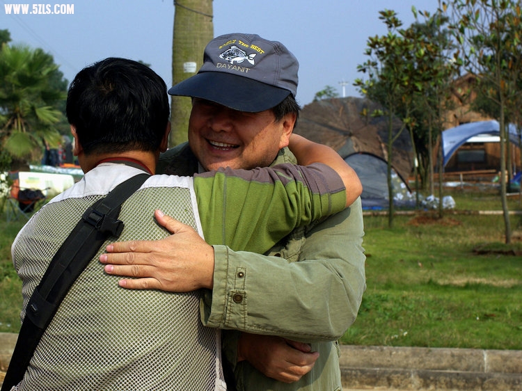
[[[214,38],[198,74],[168,91],[192,97],[189,142],[162,154],[158,172],[295,162],[287,145],[300,110],[298,68],[280,42],[244,33]],[[358,198],[322,223],[294,230],[265,255],[214,246],[214,287],[201,320],[223,329],[223,358],[235,376],[230,388],[342,388],[337,340],[356,319],[365,290],[363,234]],[[107,263],[123,265],[132,252],[133,265],[119,266],[119,274],[175,291],[169,248],[189,245],[175,235],[140,242],[139,251],[115,244]],[[191,256],[200,262],[196,248]],[[127,287],[143,288],[141,281],[127,280]]]

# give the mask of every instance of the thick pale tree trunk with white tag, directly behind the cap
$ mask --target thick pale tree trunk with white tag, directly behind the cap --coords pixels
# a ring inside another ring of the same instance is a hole
[[[172,84],[188,79],[203,65],[203,51],[214,38],[212,0],[174,0]],[[172,131],[169,146],[187,141],[191,111],[189,97],[171,97]]]

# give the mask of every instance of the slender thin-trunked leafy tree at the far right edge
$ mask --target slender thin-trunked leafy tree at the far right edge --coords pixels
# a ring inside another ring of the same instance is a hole
[[[477,77],[479,86],[488,86],[484,96],[498,108],[494,118],[500,127],[500,198],[505,242],[509,244],[512,231],[507,207],[506,115],[510,103],[517,102],[520,95],[521,6],[514,0],[453,0],[449,4],[452,33],[461,45],[466,70]]]

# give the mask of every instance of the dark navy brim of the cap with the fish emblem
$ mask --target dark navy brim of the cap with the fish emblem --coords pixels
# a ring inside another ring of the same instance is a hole
[[[290,95],[290,90],[225,72],[202,72],[168,90],[170,95],[198,97],[230,109],[258,113],[271,109]]]

